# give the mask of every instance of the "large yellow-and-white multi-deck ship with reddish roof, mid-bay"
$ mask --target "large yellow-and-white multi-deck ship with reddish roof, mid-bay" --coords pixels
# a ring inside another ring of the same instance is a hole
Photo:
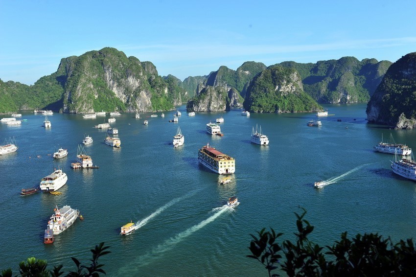
[[[214,147],[209,147],[209,144],[199,149],[198,160],[202,165],[218,174],[232,174],[235,172],[235,160]]]

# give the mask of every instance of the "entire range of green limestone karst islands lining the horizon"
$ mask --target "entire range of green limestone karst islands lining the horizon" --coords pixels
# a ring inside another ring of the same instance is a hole
[[[369,103],[370,122],[413,128],[414,59],[415,53],[410,53],[393,65],[343,57],[269,67],[248,61],[237,70],[222,66],[181,81],[171,74],[160,76],[151,62],[105,47],[61,59],[56,72],[31,86],[0,80],[0,113],[35,108],[63,113],[151,112],[185,103],[187,111],[240,107],[292,113],[321,111],[319,104],[324,103]]]

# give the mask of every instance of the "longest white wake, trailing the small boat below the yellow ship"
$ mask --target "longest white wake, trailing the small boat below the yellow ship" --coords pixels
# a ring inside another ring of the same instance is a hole
[[[134,265],[129,264],[125,269],[121,268],[120,271],[119,271],[119,274],[121,274],[121,271],[123,271],[123,272],[125,270],[130,270],[131,271],[132,267],[134,267],[134,266],[141,267],[141,266],[144,266],[144,265],[148,265],[154,259],[160,258],[160,256],[164,252],[167,252],[167,251],[171,250],[176,244],[178,244],[179,242],[184,240],[186,237],[188,237],[192,233],[204,228],[207,224],[209,224],[212,221],[214,221],[215,219],[217,219],[224,212],[227,212],[227,211],[230,212],[232,210],[234,210],[234,209],[231,208],[231,207],[228,207],[227,205],[224,205],[224,206],[219,207],[219,208],[212,209],[212,212],[214,212],[213,215],[211,215],[207,219],[201,221],[197,225],[194,225],[194,226],[188,228],[187,230],[178,233],[174,237],[171,237],[171,238],[165,240],[162,244],[158,245],[156,247],[156,249],[152,250],[150,253],[139,256],[137,258],[137,260],[134,261]]]

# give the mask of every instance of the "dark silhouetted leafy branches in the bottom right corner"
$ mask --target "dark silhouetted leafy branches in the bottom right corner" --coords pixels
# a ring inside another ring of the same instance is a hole
[[[280,269],[288,276],[416,276],[416,250],[412,239],[400,240],[393,244],[389,238],[383,239],[377,233],[357,234],[347,238],[347,232],[341,234],[341,240],[335,241],[323,253],[324,247],[310,241],[307,236],[314,227],[304,219],[306,210],[295,213],[298,232],[296,242],[284,240],[277,242],[282,233],[273,229],[262,229],[257,235],[251,235],[252,255],[268,270],[269,276]]]

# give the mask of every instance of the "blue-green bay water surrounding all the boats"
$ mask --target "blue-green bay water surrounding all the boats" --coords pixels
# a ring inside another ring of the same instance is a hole
[[[315,226],[311,239],[322,246],[344,231],[378,232],[394,242],[415,237],[416,183],[393,174],[394,155],[373,146],[392,134],[416,149],[416,130],[368,124],[365,104],[325,108],[330,115],[319,118],[321,127],[306,126],[318,119],[314,113],[246,117],[235,109],[190,117],[182,106],[178,123],[168,122],[173,112],[140,119],[125,113],[111,124],[119,130],[119,149],[104,144],[105,130],[94,128],[109,115],[55,113],[48,116],[50,129],[41,127],[44,116],[29,113],[21,126],[0,124],[0,139],[14,137],[19,146],[0,156],[0,270],[12,267],[17,274],[19,262],[35,256],[46,259],[49,269],[63,264],[68,272],[75,269],[70,257],[89,264],[90,249],[105,242],[112,252],[100,258],[107,276],[266,276],[260,263],[246,257],[250,234],[271,227],[294,239],[294,213],[301,208]],[[206,124],[221,115],[224,137],[208,135]],[[250,143],[256,124],[269,146]],[[178,126],[185,144],[173,148]],[[99,169],[71,169],[86,135],[94,142],[84,148]],[[231,183],[219,185],[224,176],[199,165],[198,149],[207,143],[235,159]],[[66,158],[47,155],[59,147],[68,148]],[[62,195],[20,196],[58,166],[68,174]],[[321,180],[329,184],[314,188]],[[238,207],[225,207],[231,196],[238,197]],[[64,205],[79,209],[85,220],[45,245],[48,218]],[[119,235],[131,221],[138,230]]]

